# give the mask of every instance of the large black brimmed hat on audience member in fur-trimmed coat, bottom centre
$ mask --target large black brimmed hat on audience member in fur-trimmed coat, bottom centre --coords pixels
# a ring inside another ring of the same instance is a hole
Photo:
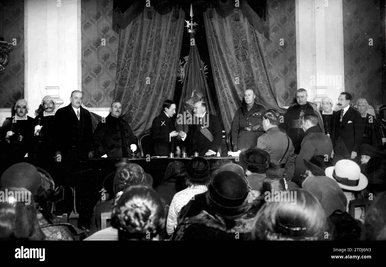
[[[245,179],[236,172],[226,170],[213,178],[205,197],[215,213],[226,218],[236,218],[250,209],[248,194]]]

